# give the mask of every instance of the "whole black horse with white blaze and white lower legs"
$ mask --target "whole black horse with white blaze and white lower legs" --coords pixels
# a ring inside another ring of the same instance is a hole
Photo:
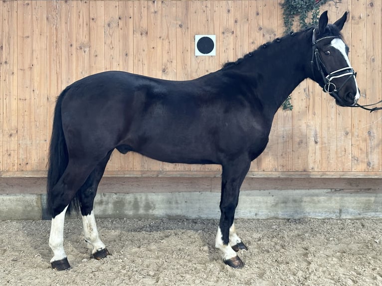
[[[273,117],[306,78],[340,106],[360,97],[340,30],[345,13],[328,24],[266,43],[222,69],[190,81],[167,81],[122,71],[88,76],[57,99],[50,143],[47,205],[52,216],[52,268],[68,269],[64,217],[80,209],[92,257],[109,255],[99,239],[93,201],[110,154],[135,151],[171,163],[222,165],[216,248],[234,268],[247,248],[236,235],[234,214],[250,163],[265,149]]]

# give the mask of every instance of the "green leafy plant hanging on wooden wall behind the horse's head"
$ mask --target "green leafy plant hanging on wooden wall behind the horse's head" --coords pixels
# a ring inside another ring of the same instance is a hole
[[[320,6],[325,2],[327,2],[327,0],[284,0],[281,6],[283,8],[285,34],[292,31],[296,16],[298,16],[299,19],[300,29],[317,25],[320,15]],[[309,13],[311,13],[311,17],[307,21]],[[288,98],[281,105],[281,108],[283,110],[293,109],[291,96],[288,96]]]

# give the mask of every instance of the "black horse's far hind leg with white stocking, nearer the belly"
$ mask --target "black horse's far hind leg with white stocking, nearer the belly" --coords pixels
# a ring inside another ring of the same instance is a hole
[[[91,245],[92,255],[91,258],[100,260],[108,255],[109,251],[106,249],[105,244],[99,238],[97,225],[95,222],[93,205],[94,198],[97,193],[98,184],[101,181],[105,171],[106,164],[111,155],[110,151],[105,158],[98,163],[98,165],[91,172],[84,185],[79,190],[80,209],[82,215],[82,225],[84,228],[85,241]]]

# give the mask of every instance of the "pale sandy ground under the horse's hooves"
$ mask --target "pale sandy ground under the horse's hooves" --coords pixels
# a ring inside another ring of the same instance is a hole
[[[382,221],[236,220],[249,251],[225,266],[217,220],[99,219],[112,256],[89,259],[79,219],[65,222],[72,269],[50,268],[50,221],[0,221],[0,285],[382,285]]]

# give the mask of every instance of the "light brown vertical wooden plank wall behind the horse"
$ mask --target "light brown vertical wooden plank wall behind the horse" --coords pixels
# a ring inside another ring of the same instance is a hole
[[[68,84],[104,70],[199,77],[283,34],[282,0],[5,0],[0,4],[0,176],[45,174],[54,101]],[[329,1],[358,72],[361,104],[381,100],[381,1]],[[216,56],[195,57],[195,34],[216,34]],[[304,81],[280,110],[250,176],[382,174],[382,112],[341,108]],[[217,175],[215,165],[113,153],[109,175]]]

